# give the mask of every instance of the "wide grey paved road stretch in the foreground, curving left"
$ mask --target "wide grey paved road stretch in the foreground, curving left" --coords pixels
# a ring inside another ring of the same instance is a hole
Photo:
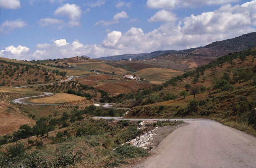
[[[108,117],[111,118],[111,117]],[[116,118],[122,119],[122,118]],[[134,119],[131,119],[134,120]],[[152,119],[135,119],[152,120]],[[207,119],[179,119],[188,125],[168,135],[137,168],[255,168],[256,138]]]

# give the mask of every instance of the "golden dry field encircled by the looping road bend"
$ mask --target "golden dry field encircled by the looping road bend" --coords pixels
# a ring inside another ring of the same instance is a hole
[[[84,100],[84,97],[76,96],[74,94],[57,93],[53,96],[30,100],[33,103],[41,104],[54,104],[54,103],[67,103],[71,101]]]

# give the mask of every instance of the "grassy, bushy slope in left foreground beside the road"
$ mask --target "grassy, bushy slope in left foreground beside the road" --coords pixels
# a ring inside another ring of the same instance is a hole
[[[61,125],[41,118],[34,127],[21,126],[13,136],[23,140],[8,144],[0,152],[0,166],[116,167],[129,163],[131,158],[148,156],[146,149],[121,145],[141,134],[137,122],[85,118],[65,125],[66,118],[63,114]],[[51,132],[59,126],[60,130]]]

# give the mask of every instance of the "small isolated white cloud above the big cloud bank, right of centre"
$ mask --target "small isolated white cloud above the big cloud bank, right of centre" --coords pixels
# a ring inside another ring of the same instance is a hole
[[[149,22],[172,22],[176,21],[177,17],[175,14],[172,12],[166,11],[166,10],[161,10],[156,12],[154,16],[148,19]]]

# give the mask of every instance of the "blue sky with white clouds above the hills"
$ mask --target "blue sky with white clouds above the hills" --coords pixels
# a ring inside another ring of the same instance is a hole
[[[0,56],[180,50],[255,31],[256,1],[0,0]]]

